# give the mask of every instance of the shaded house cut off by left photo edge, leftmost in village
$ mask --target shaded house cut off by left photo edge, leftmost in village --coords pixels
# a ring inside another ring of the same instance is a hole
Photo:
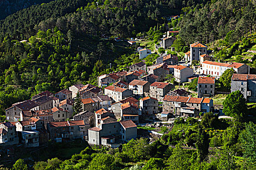
[[[0,146],[16,145],[18,143],[19,137],[15,123],[0,123]]]

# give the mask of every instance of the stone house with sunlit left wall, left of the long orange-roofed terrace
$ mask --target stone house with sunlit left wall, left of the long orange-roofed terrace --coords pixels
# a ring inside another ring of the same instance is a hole
[[[143,116],[158,113],[158,100],[152,97],[145,97],[139,100],[139,108]]]

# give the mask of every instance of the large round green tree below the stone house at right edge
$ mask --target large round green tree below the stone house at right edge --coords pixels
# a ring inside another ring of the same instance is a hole
[[[237,90],[227,95],[223,102],[223,113],[236,119],[242,119],[247,110],[243,94]]]

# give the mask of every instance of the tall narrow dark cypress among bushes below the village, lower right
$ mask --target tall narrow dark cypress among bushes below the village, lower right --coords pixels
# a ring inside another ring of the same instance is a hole
[[[205,129],[202,125],[198,125],[197,133],[197,159],[199,162],[202,162],[209,153],[209,135],[205,132]]]

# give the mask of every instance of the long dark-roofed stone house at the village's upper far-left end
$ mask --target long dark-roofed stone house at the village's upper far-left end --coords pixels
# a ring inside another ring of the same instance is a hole
[[[39,104],[31,100],[13,104],[5,110],[6,120],[16,122],[20,119],[21,111],[35,111],[39,110]]]

